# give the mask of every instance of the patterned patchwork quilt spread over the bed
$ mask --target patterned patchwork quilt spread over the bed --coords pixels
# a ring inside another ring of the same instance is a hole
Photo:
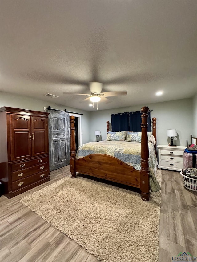
[[[151,191],[156,192],[161,189],[155,177],[157,158],[154,146],[149,145],[149,175]],[[83,144],[78,148],[76,158],[82,158],[89,154],[108,154],[114,156],[126,164],[133,166],[136,170],[141,170],[141,143],[127,141],[100,141]]]

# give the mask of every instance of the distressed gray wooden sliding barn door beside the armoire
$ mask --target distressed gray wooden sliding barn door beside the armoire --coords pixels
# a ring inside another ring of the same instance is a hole
[[[69,113],[45,110],[49,114],[49,166],[50,171],[70,162]]]

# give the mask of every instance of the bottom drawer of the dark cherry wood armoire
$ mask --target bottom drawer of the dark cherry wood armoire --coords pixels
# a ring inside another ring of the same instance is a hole
[[[12,191],[18,190],[22,187],[28,186],[34,182],[37,182],[43,178],[46,178],[48,176],[49,171],[45,170],[43,172],[39,172],[38,174],[31,175],[26,178],[22,178],[18,181],[12,182]]]

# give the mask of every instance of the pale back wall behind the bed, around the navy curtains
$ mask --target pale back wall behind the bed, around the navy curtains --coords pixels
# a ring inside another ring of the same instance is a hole
[[[193,131],[193,105],[191,99],[181,99],[153,104],[142,104],[126,108],[114,108],[110,110],[94,111],[90,113],[90,140],[95,141],[95,130],[100,130],[102,140],[106,139],[106,121],[111,123],[111,114],[130,111],[140,111],[143,106],[148,106],[151,118],[157,118],[157,144],[167,145],[170,138],[167,138],[167,129],[176,129],[178,140],[176,145],[186,146],[186,139],[190,141],[190,134]],[[197,111],[196,111],[197,114]]]

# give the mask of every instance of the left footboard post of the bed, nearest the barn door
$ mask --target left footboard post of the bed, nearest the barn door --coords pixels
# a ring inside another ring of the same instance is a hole
[[[72,178],[76,178],[76,168],[75,168],[75,156],[76,156],[76,144],[75,144],[75,127],[74,127],[73,115],[70,116],[70,172]]]

